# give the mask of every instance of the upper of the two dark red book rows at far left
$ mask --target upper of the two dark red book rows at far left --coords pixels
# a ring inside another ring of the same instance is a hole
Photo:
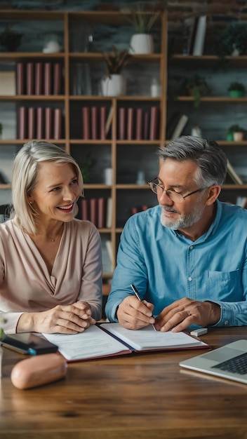
[[[17,95],[60,95],[62,65],[60,62],[17,62]]]

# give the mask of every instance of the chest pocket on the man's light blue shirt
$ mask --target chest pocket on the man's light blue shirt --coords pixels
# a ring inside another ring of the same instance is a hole
[[[206,290],[212,300],[234,302],[243,300],[241,270],[206,271]]]

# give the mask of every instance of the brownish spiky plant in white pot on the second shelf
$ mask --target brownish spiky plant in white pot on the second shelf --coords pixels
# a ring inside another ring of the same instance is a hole
[[[126,66],[131,55],[127,49],[117,50],[112,46],[110,52],[102,52],[102,57],[107,65],[105,76],[101,81],[103,96],[119,96],[125,93],[125,83],[122,76],[122,69]]]

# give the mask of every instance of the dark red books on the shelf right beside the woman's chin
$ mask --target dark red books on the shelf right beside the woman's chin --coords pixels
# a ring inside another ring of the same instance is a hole
[[[91,221],[98,229],[112,226],[112,198],[82,198],[81,219]]]

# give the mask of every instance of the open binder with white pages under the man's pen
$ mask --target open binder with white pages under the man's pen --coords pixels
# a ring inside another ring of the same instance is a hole
[[[208,344],[185,332],[154,331],[152,325],[128,330],[119,323],[92,325],[79,334],[43,334],[67,360],[82,361],[145,351],[208,348]]]

